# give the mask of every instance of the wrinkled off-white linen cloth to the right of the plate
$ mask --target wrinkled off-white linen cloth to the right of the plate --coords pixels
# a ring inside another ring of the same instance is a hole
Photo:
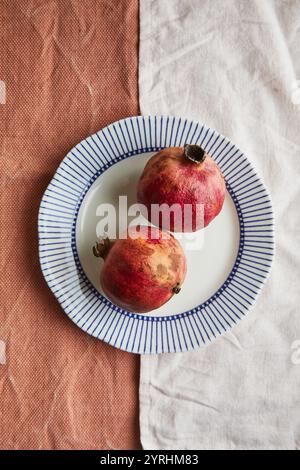
[[[271,193],[276,236],[239,325],[206,348],[142,356],[142,445],[299,449],[300,1],[141,0],[139,60],[142,114],[236,143]]]

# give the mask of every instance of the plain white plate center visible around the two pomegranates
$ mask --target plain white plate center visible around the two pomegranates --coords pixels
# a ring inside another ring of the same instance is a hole
[[[78,256],[86,276],[102,293],[99,282],[103,261],[95,258],[92,246],[100,236],[104,218],[119,230],[119,196],[126,197],[127,207],[136,204],[138,179],[153,152],[129,157],[105,171],[92,184],[79,210],[76,224]],[[107,212],[105,213],[105,206]],[[125,198],[123,199],[125,204]],[[114,207],[113,213],[109,208]],[[134,212],[134,211],[133,211]],[[136,215],[128,216],[128,223]],[[140,222],[146,224],[140,217]],[[126,221],[122,217],[121,225]],[[122,231],[122,230],[121,230]],[[239,248],[239,221],[235,205],[227,193],[221,213],[204,230],[193,234],[174,234],[187,258],[187,275],[180,294],[153,312],[151,316],[182,313],[205,302],[222,286],[233,268]],[[147,315],[147,314],[146,314]]]

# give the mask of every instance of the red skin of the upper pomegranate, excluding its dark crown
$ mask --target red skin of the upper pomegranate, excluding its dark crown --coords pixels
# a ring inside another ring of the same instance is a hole
[[[220,213],[225,192],[221,170],[208,154],[202,163],[196,163],[185,156],[183,147],[169,147],[148,161],[138,183],[137,199],[146,206],[148,219],[160,228],[195,232],[206,227]],[[168,227],[160,214],[157,224],[151,217],[151,204],[179,204],[182,214],[184,205],[190,204],[191,216],[185,220],[179,217],[178,223],[171,212]]]

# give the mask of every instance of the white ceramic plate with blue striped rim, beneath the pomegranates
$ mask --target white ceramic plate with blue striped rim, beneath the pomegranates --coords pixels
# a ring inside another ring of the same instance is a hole
[[[101,262],[91,250],[97,207],[118,208],[119,195],[134,203],[151,155],[185,143],[201,145],[218,162],[228,190],[224,207],[196,235],[176,235],[188,263],[180,294],[149,314],[125,311],[99,286]],[[251,163],[213,129],[181,118],[133,117],[88,137],[64,158],[41,202],[39,240],[45,279],[80,328],[130,352],[182,352],[233,327],[255,302],[273,257],[272,205]]]

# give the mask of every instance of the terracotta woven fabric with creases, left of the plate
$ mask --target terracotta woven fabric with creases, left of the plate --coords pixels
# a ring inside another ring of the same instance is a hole
[[[139,357],[67,318],[37,242],[67,151],[138,113],[138,1],[7,0],[0,20],[0,449],[138,448]]]

